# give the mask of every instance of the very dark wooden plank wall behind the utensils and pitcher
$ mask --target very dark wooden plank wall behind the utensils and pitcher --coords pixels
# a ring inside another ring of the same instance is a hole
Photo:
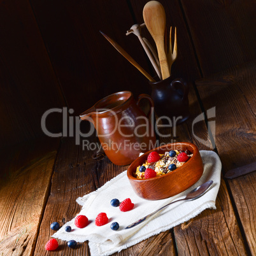
[[[41,116],[50,108],[68,106],[79,115],[113,92],[150,93],[146,78],[99,33],[155,75],[136,36],[125,36],[143,23],[146,2],[0,1],[0,148],[43,136]],[[178,30],[174,76],[194,82],[255,59],[255,1],[160,3],[168,29]],[[150,39],[146,29],[143,35]],[[61,131],[61,120],[50,115],[48,129]]]

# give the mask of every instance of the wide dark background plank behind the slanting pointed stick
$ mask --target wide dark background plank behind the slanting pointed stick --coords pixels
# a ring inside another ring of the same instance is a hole
[[[32,0],[31,4],[68,105],[76,114],[111,93],[148,92],[148,80],[99,32],[148,71],[139,40],[125,35],[134,24],[126,1]]]

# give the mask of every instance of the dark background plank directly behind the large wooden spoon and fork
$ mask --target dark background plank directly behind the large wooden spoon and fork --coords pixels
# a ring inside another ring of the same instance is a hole
[[[143,7],[148,2],[147,0],[131,0],[132,10],[134,11],[134,16],[139,24],[142,24],[143,21]],[[178,46],[178,55],[177,59],[172,65],[171,74],[174,77],[184,78],[189,82],[194,81],[201,77],[199,69],[197,68],[197,61],[194,55],[194,50],[190,42],[190,37],[187,31],[185,20],[183,19],[183,14],[180,9],[180,3],[178,0],[159,1],[164,10],[166,11],[166,40],[169,41],[169,29],[170,27],[177,27],[177,46]],[[142,29],[143,37],[148,39],[151,45],[155,48],[155,43],[152,39],[152,36],[147,31],[146,27]],[[174,42],[174,33],[172,35],[172,41]]]

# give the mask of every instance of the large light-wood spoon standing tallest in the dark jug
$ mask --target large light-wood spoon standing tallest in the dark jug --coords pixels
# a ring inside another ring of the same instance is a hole
[[[164,7],[157,1],[150,1],[143,8],[143,18],[146,27],[157,45],[162,79],[170,76],[166,52],[164,50],[164,34],[166,31],[166,13]]]

